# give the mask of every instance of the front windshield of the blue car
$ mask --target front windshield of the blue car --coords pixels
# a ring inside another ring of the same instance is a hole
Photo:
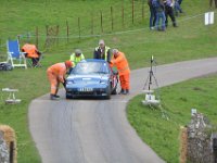
[[[74,74],[108,74],[104,62],[79,62],[73,70]]]

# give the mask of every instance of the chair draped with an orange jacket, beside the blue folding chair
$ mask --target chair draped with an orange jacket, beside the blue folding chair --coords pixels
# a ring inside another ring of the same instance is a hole
[[[31,67],[41,66],[40,60],[41,60],[41,52],[38,51],[37,47],[35,45],[25,43],[22,47],[22,52],[25,52],[25,57],[27,59],[28,65]],[[29,61],[30,59],[31,61]]]

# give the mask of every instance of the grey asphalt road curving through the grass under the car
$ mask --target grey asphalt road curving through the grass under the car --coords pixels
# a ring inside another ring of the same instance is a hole
[[[130,98],[142,93],[150,68],[131,72],[129,96],[111,100],[51,101],[49,95],[29,105],[29,128],[43,163],[161,163],[126,117]],[[217,58],[161,65],[153,70],[161,87],[217,72]]]

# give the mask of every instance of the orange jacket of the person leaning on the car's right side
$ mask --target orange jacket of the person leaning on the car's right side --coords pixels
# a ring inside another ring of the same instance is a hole
[[[117,66],[117,71],[119,75],[125,75],[125,74],[129,74],[130,70],[129,70],[129,65],[128,65],[128,61],[125,58],[125,54],[120,51],[118,51],[118,55],[116,58],[112,58],[111,60],[111,66]]]

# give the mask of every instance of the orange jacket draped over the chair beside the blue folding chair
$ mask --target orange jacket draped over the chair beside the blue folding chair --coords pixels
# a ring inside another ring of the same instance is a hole
[[[35,45],[25,43],[22,51],[27,53],[27,58],[39,58],[38,50]]]

